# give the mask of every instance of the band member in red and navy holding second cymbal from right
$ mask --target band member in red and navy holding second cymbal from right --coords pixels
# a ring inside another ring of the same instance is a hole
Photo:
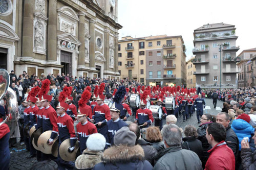
[[[42,132],[51,130],[51,137],[48,139],[49,145],[53,144],[53,140],[58,135],[57,126],[57,113],[54,108],[50,105],[52,101],[52,96],[48,94],[43,95],[42,106],[45,107],[44,113],[42,113]],[[45,158],[43,158],[45,160]]]

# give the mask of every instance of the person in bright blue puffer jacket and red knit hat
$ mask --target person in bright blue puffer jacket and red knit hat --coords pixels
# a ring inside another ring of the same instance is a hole
[[[238,136],[239,151],[241,151],[241,141],[243,138],[248,137],[250,142],[251,136],[254,135],[254,128],[250,125],[250,116],[245,113],[240,114],[237,119],[233,120],[231,128]]]

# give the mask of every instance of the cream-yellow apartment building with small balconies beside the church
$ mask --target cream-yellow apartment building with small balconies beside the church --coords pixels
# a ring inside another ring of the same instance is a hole
[[[182,36],[122,37],[118,46],[121,79],[146,85],[185,85],[185,45]]]

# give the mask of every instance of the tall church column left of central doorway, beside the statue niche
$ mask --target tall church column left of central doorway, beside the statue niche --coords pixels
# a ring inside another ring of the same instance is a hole
[[[48,61],[57,61],[57,1],[49,1]]]

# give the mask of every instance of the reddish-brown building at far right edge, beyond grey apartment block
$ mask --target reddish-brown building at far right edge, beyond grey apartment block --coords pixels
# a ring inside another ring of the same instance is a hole
[[[253,73],[253,70],[255,69],[254,67],[256,67],[256,63],[253,60],[254,55],[256,55],[256,48],[244,50],[238,55],[238,58],[240,59],[240,61],[237,63],[238,87],[247,87],[251,85],[252,79],[256,75]]]

